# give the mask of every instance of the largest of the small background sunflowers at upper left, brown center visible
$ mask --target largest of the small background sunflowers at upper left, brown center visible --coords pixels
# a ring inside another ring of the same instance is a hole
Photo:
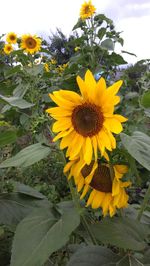
[[[30,34],[23,35],[21,38],[21,48],[29,54],[34,54],[41,49],[41,39],[36,35],[32,36]]]

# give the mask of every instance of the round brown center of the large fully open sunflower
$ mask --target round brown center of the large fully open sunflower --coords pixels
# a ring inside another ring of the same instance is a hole
[[[72,124],[76,132],[84,137],[96,135],[103,126],[104,117],[99,106],[84,103],[75,107]]]

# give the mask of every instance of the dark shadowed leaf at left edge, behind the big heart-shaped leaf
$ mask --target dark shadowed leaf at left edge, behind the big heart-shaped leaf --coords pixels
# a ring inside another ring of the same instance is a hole
[[[0,194],[0,224],[17,224],[35,208],[46,208],[50,203],[21,193]]]

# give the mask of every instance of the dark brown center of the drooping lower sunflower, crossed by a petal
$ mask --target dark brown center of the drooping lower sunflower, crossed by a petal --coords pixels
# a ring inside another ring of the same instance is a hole
[[[90,165],[85,165],[81,171],[83,177],[89,175],[93,167],[93,162]],[[112,192],[112,180],[110,176],[109,167],[98,163],[98,167],[95,170],[90,186],[98,191],[111,193]]]

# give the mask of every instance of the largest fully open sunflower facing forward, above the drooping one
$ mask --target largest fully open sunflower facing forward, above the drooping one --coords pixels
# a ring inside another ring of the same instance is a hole
[[[97,160],[98,150],[104,156],[105,149],[116,148],[116,140],[112,133],[119,134],[123,128],[121,122],[127,119],[113,114],[114,107],[120,102],[116,96],[122,81],[106,88],[103,78],[95,81],[87,70],[85,81],[77,77],[81,95],[68,90],[59,90],[50,94],[58,107],[46,111],[57,121],[52,127],[58,135],[54,141],[62,138],[60,149],[67,148],[66,156],[74,160],[83,156],[86,164],[90,164],[94,154]]]

